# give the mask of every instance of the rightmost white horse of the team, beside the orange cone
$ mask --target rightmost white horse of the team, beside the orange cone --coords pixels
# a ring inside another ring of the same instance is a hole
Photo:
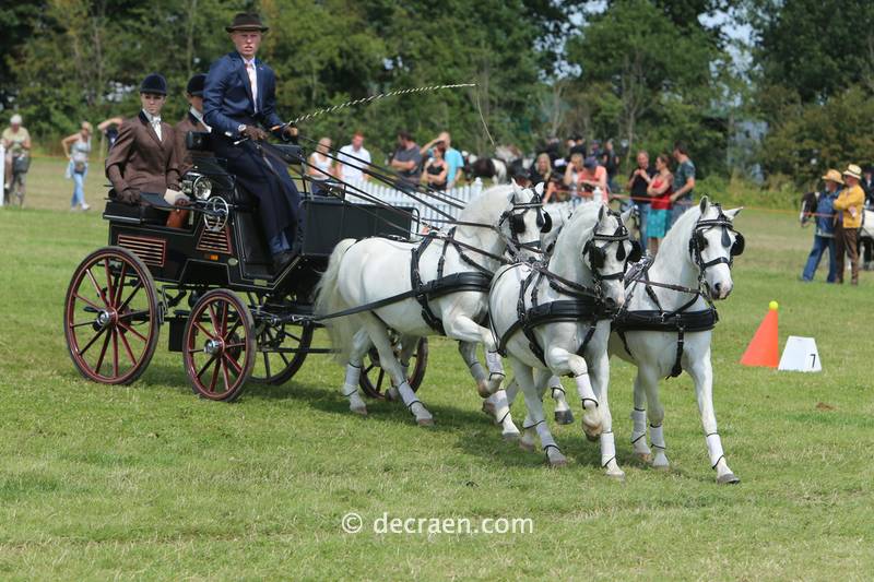
[[[619,313],[610,338],[610,354],[637,366],[635,407],[631,412],[635,453],[657,468],[666,470],[670,466],[662,429],[664,407],[659,399],[659,378],[676,376],[681,369],[686,370],[695,382],[710,464],[717,471],[719,484],[739,483],[740,479],[729,468],[717,432],[710,363],[710,328],[716,322],[708,324],[707,313],[710,312],[708,299],[724,299],[734,286],[731,277],[732,259],[741,254],[744,248],[743,236],[735,233],[732,226],[740,212],[741,209],[723,212],[719,204],[710,204],[706,197],[697,207],[685,212],[664,237],[658,256],[646,272],[630,273],[636,280],[651,282],[650,290],[646,290],[643,282],[626,282],[625,314],[637,322],[626,320],[623,323],[623,313]],[[652,321],[660,313],[664,313],[668,321],[673,321],[676,312],[689,325],[689,331],[683,333],[682,344],[676,329],[658,331],[658,323]],[[641,324],[647,319],[650,321]],[[615,328],[622,329],[624,325],[628,326],[627,331],[622,334],[615,331]],[[647,325],[650,330],[639,329]],[[696,326],[706,329],[692,331]],[[563,394],[557,394],[557,397],[563,399]],[[647,419],[654,455],[646,442]]]

